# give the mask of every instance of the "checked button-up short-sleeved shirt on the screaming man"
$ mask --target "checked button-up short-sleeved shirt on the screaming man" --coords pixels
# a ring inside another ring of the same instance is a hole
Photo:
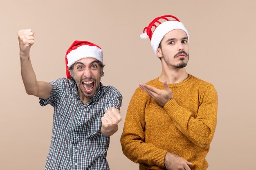
[[[79,98],[72,79],[50,82],[49,99],[40,105],[54,107],[52,141],[45,170],[109,170],[109,137],[101,134],[101,117],[111,107],[120,109],[122,96],[101,83],[87,104]]]

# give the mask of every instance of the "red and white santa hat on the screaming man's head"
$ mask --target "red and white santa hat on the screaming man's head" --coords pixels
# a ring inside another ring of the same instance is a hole
[[[88,41],[74,41],[70,48],[67,49],[66,53],[66,74],[67,78],[70,79],[70,71],[68,68],[72,66],[76,61],[82,59],[92,57],[103,63],[103,53],[101,47],[97,46]]]

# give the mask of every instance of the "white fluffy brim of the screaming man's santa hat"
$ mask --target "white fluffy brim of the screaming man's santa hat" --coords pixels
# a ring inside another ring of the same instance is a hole
[[[77,49],[74,49],[67,54],[67,66],[70,67],[76,61],[89,57],[95,58],[96,60],[99,60],[101,63],[103,63],[103,53],[100,48],[97,46],[83,45],[77,47]]]

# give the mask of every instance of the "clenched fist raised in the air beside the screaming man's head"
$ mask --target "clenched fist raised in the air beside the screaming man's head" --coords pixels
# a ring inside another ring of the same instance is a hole
[[[30,47],[34,44],[34,31],[31,29],[23,29],[18,31],[18,39],[20,44],[20,57],[28,57]]]

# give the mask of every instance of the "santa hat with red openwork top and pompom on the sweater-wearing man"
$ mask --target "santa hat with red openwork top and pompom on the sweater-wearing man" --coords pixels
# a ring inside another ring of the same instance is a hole
[[[160,22],[159,20],[164,20],[164,22]],[[143,33],[140,35],[140,37],[142,39],[146,39],[149,37],[151,41],[151,46],[156,54],[159,44],[164,38],[164,35],[174,29],[183,30],[189,39],[189,33],[186,30],[185,26],[180,22],[178,18],[173,15],[163,15],[161,17],[155,18],[152,22],[148,24],[147,27],[144,28]]]

